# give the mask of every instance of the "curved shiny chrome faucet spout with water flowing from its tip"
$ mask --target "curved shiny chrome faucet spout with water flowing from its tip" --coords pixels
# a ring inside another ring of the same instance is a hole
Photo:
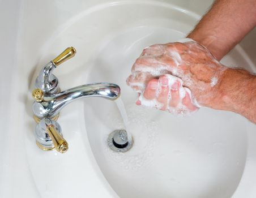
[[[103,97],[108,100],[116,100],[120,96],[120,87],[112,83],[93,83],[80,85],[66,91],[44,96],[42,102],[34,102],[33,113],[39,118],[52,118],[70,102],[79,98]]]

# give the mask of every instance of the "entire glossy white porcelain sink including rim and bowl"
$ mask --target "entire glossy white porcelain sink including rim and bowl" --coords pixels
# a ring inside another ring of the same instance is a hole
[[[0,197],[256,197],[254,124],[207,108],[185,118],[144,109],[134,104],[136,94],[125,83],[143,48],[184,37],[211,2],[12,2],[19,14],[7,16],[15,18],[18,38],[12,35],[16,42],[4,59],[8,63],[17,51],[13,80],[1,87],[11,99],[4,99],[10,109],[1,111],[7,127],[0,146]],[[255,35],[254,30],[222,62],[255,72]],[[33,82],[67,46],[77,54],[54,70],[61,89],[100,81],[120,85],[134,137],[128,152],[115,153],[106,144],[110,132],[124,126],[116,104],[103,98],[78,100],[61,111],[67,153],[37,148]]]

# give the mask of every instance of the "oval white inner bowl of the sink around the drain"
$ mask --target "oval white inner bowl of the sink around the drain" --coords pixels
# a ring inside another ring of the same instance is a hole
[[[152,12],[150,7],[148,13]],[[166,6],[153,7],[155,15],[174,12],[173,7],[169,11],[164,11]],[[100,98],[84,101],[93,154],[120,197],[232,197],[244,173],[248,148],[246,119],[207,108],[189,117],[145,109],[134,104],[136,93],[125,83],[130,66],[144,47],[185,36],[184,32],[192,28],[193,18],[186,13],[182,19],[184,29],[179,31],[180,24],[175,19],[168,23],[159,19],[157,24],[163,27],[150,21],[112,36],[95,55],[89,71],[89,81],[113,81],[120,85],[134,138],[129,152],[110,150],[106,144],[110,132],[125,128],[117,105]],[[240,59],[244,61],[241,65],[248,64],[240,50],[237,46],[222,62],[236,65],[236,59]]]

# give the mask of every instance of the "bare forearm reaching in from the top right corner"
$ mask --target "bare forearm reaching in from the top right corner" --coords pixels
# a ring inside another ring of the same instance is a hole
[[[223,58],[256,25],[256,0],[217,0],[187,36]]]

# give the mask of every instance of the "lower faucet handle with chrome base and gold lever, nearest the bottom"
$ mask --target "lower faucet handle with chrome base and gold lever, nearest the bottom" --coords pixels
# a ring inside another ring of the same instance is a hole
[[[36,126],[36,144],[42,150],[56,149],[60,153],[65,153],[69,149],[69,144],[62,137],[61,126],[50,119],[44,118]]]

